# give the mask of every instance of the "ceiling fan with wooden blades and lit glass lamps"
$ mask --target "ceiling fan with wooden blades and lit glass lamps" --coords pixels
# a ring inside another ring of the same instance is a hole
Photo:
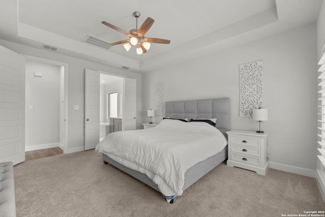
[[[132,45],[137,45],[137,53],[142,54],[146,53],[147,50],[149,50],[150,43],[169,44],[171,42],[170,40],[166,39],[146,38],[144,35],[148,32],[154,20],[151,17],[148,17],[138,29],[138,17],[140,17],[140,13],[136,11],[133,13],[133,16],[137,18],[136,28],[129,30],[129,32],[126,32],[123,29],[112,25],[106,21],[102,22],[104,25],[107,25],[108,27],[111,27],[129,37],[129,39],[111,43],[109,44],[110,46],[125,43],[123,46],[126,51],[128,51],[129,49],[131,49]]]

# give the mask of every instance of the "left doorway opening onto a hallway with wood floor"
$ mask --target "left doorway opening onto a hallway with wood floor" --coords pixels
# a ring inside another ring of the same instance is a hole
[[[59,147],[67,153],[68,66],[25,57],[25,151]]]

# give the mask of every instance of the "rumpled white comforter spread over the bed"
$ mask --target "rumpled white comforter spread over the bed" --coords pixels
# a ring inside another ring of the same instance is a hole
[[[95,150],[146,174],[165,196],[178,196],[186,170],[226,145],[222,133],[208,123],[164,119],[154,128],[110,133]]]

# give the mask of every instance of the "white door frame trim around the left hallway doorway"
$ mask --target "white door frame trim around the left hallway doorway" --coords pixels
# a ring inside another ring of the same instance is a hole
[[[63,109],[63,116],[64,116],[64,124],[63,124],[63,153],[68,153],[68,64],[61,63],[59,61],[54,61],[51,59],[44,59],[41,57],[30,56],[26,54],[20,53],[24,56],[27,60],[39,61],[41,63],[62,66],[64,67],[64,109]]]

